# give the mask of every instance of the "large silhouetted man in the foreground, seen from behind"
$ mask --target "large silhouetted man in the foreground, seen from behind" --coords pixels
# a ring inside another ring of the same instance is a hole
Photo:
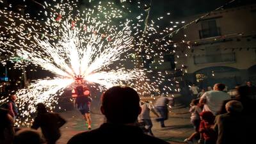
[[[102,95],[100,108],[107,122],[98,129],[82,132],[72,137],[68,144],[83,143],[166,143],[166,141],[144,134],[136,126],[141,112],[140,97],[129,87],[114,86]]]

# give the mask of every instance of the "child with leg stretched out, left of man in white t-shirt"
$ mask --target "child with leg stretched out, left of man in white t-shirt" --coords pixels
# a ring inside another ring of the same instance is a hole
[[[191,113],[190,120],[191,123],[195,127],[195,132],[189,136],[189,138],[186,138],[184,142],[186,143],[193,143],[193,138],[195,136],[198,136],[199,134],[199,125],[200,125],[200,115],[199,113],[202,112],[202,109],[200,108],[199,99],[193,99],[190,103],[191,108],[189,109],[189,112]]]

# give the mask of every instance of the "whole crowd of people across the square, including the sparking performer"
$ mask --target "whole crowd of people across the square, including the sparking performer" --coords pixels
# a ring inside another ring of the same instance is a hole
[[[248,83],[237,87],[237,97],[230,97],[225,84],[217,83],[213,90],[193,93],[191,101],[191,123],[195,132],[186,143],[224,144],[250,143],[256,129],[254,115],[255,86]],[[81,89],[81,90],[80,90]],[[199,90],[194,88],[191,90]],[[87,92],[89,91],[89,92]],[[154,104],[148,100],[141,101],[138,93],[130,87],[114,86],[102,95],[100,111],[106,122],[97,129],[92,129],[90,118],[90,90],[77,86],[72,97],[76,99],[76,107],[83,115],[89,131],[82,132],[68,140],[68,144],[84,143],[167,143],[154,137],[150,112],[156,115],[156,121],[165,127],[168,119],[168,104],[173,105],[173,97],[161,95]],[[36,104],[37,115],[31,129],[19,129],[14,126],[15,117],[19,113],[15,94],[10,95],[6,108],[0,109],[0,143],[48,143],[54,144],[60,138],[66,120],[57,113],[47,111],[45,104]],[[36,131],[41,128],[43,137]],[[28,141],[29,139],[29,141]]]

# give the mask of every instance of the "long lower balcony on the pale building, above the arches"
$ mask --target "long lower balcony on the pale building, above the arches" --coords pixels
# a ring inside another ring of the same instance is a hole
[[[195,65],[200,65],[205,63],[227,63],[227,62],[235,62],[235,61],[236,61],[235,52],[194,56]]]

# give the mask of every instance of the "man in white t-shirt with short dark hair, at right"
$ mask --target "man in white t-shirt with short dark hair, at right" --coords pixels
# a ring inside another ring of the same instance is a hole
[[[205,92],[200,98],[199,103],[204,104],[203,111],[211,111],[214,115],[218,114],[224,100],[230,99],[228,93],[223,92],[225,84],[214,84],[213,90]]]

